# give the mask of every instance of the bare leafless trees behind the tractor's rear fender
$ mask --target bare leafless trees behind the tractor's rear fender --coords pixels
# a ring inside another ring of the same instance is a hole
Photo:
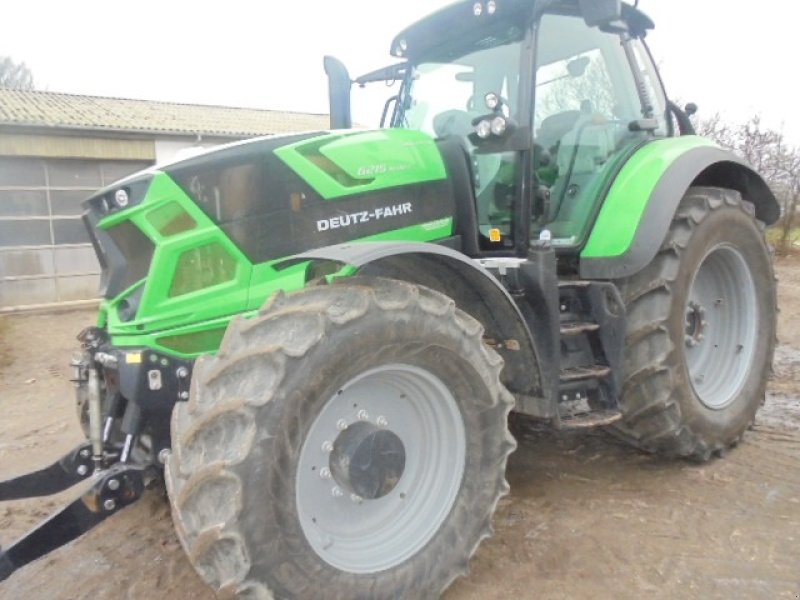
[[[697,132],[742,156],[766,179],[781,205],[778,245],[788,250],[800,208],[800,149],[782,131],[765,126],[760,115],[731,125],[719,114],[698,120]]]

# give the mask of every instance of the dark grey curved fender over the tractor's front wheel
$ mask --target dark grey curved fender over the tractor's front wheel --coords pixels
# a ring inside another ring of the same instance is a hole
[[[435,244],[362,242],[312,250],[295,261],[350,265],[355,273],[422,285],[452,298],[481,322],[484,339],[505,360],[503,384],[517,398],[516,410],[547,411],[542,390],[540,348],[511,295],[484,267],[465,255]]]

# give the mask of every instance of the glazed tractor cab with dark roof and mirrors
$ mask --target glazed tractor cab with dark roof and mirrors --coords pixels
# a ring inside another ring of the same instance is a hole
[[[652,27],[615,1],[460,2],[395,38],[403,62],[354,83],[400,82],[382,125],[429,134],[451,179],[469,178],[475,222],[459,209],[466,253],[525,256],[545,239],[575,254],[622,165],[673,134],[644,43]],[[333,125],[349,124],[346,71],[327,70]]]

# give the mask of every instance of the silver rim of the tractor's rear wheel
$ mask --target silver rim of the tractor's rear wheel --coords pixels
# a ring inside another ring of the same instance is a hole
[[[712,410],[729,406],[752,367],[758,303],[750,269],[727,244],[711,249],[692,281],[686,304],[686,367],[695,394]]]

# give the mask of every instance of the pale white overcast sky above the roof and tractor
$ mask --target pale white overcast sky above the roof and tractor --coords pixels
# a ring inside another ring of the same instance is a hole
[[[50,91],[324,113],[324,54],[352,75],[383,66],[400,29],[449,3],[6,0],[0,55],[26,62]],[[656,22],[648,42],[672,97],[731,121],[760,112],[800,144],[793,2],[640,8]]]

